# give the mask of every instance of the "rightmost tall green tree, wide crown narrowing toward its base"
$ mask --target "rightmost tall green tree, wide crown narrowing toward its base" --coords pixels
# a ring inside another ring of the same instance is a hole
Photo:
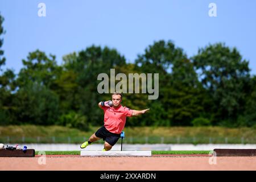
[[[204,88],[212,98],[214,123],[225,121],[234,125],[238,115],[245,110],[245,97],[250,82],[249,62],[242,59],[236,48],[217,43],[200,48],[192,57]]]

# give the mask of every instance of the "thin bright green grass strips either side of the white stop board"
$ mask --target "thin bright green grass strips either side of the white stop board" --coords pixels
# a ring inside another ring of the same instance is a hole
[[[38,155],[39,151],[35,154]],[[152,154],[209,154],[210,151],[152,151]],[[46,151],[46,155],[80,155],[80,151]]]

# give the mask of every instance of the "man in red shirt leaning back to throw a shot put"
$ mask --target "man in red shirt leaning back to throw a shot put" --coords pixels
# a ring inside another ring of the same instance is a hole
[[[104,126],[96,131],[89,140],[82,143],[80,148],[85,148],[99,139],[103,139],[103,151],[110,150],[120,138],[120,134],[125,127],[126,117],[133,117],[146,113],[149,109],[131,110],[128,107],[123,107],[122,94],[115,92],[112,94],[113,106],[108,105],[108,101],[98,103],[98,106],[104,110]]]

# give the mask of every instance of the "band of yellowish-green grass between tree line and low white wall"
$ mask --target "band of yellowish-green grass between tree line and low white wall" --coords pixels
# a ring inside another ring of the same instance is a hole
[[[81,131],[63,126],[0,126],[0,143],[81,143],[100,126]],[[124,143],[256,143],[256,128],[125,127]],[[102,142],[102,141],[98,141]]]

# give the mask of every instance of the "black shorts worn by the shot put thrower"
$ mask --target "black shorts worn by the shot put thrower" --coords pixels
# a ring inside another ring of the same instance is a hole
[[[104,141],[108,142],[111,146],[114,146],[121,134],[111,133],[105,128],[105,126],[102,126],[96,131],[95,135],[96,137],[102,138]]]

